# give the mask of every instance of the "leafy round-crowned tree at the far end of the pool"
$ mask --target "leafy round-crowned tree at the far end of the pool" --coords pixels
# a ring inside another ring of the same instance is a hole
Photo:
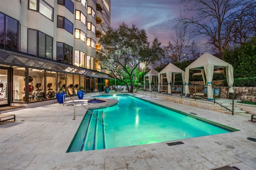
[[[112,27],[99,40],[104,48],[96,52],[102,69],[109,70],[129,92],[133,92],[135,69],[144,62],[146,65],[159,60],[163,56],[161,43],[154,37],[152,44],[148,42],[146,31],[138,29],[134,24],[128,27],[121,23],[118,29]],[[130,89],[125,79],[130,80]]]

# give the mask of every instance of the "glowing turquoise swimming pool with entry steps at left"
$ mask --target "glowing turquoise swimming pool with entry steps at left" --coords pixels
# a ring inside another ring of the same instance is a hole
[[[96,97],[119,100],[115,106],[92,110],[94,115],[108,124],[108,129],[104,130],[106,125],[97,122],[87,112],[67,152],[143,145],[237,131],[130,95]]]

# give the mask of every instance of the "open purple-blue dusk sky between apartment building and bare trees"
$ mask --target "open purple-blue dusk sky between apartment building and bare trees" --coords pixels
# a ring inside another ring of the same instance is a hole
[[[111,0],[111,27],[118,28],[119,23],[132,23],[139,29],[145,29],[148,41],[152,42],[154,35],[158,37],[161,46],[171,41],[170,34],[180,16],[178,0]]]

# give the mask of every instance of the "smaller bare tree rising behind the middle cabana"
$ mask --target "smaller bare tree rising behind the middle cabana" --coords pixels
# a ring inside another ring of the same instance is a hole
[[[165,55],[171,59],[173,64],[187,60],[188,57],[197,59],[200,55],[197,47],[197,41],[192,39],[186,27],[175,28],[175,34],[171,36],[172,41],[169,41],[168,46],[164,47]]]

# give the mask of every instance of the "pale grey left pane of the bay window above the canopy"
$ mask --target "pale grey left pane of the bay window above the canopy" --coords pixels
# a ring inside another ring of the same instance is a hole
[[[28,53],[37,55],[37,30],[28,29]]]

